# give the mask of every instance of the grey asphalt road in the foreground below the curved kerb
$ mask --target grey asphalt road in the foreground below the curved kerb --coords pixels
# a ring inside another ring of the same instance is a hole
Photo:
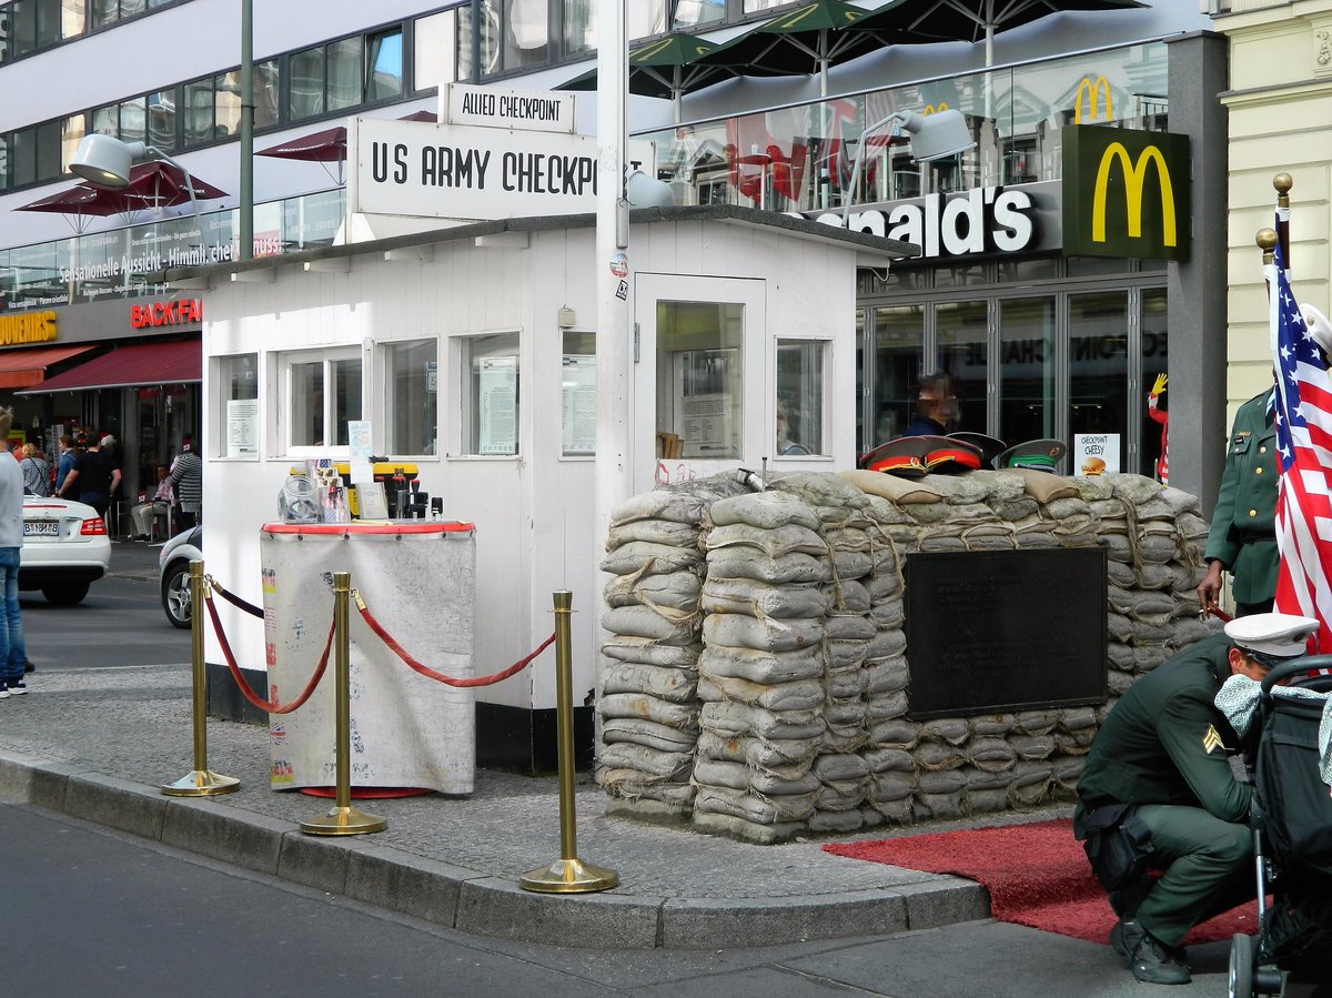
[[[0,805],[5,994],[1120,998],[1108,946],[1002,922],[738,950],[559,949],[484,939]],[[17,861],[21,859],[21,861]],[[1225,994],[1223,943],[1171,998]]]

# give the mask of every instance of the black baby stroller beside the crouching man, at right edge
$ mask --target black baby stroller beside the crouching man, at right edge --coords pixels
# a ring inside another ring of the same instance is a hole
[[[1232,998],[1279,994],[1281,971],[1289,971],[1291,985],[1332,981],[1332,789],[1319,751],[1332,676],[1309,676],[1317,669],[1332,669],[1332,656],[1272,669],[1244,741],[1253,777],[1259,934],[1231,941]],[[1285,678],[1289,688],[1276,685]],[[1293,688],[1320,696],[1300,696]]]

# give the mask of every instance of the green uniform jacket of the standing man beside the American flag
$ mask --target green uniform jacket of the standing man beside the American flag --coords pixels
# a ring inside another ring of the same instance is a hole
[[[1267,397],[1249,398],[1235,413],[1225,450],[1221,490],[1207,534],[1207,561],[1235,576],[1237,604],[1257,604],[1276,593],[1276,428],[1267,424]]]

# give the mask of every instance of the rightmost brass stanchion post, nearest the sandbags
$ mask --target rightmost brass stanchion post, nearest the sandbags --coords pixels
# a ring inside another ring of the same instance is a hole
[[[559,755],[559,859],[518,878],[523,890],[546,894],[589,894],[619,885],[619,874],[578,858],[578,815],[574,809],[574,677],[569,616],[573,593],[561,589],[555,600],[555,729]]]

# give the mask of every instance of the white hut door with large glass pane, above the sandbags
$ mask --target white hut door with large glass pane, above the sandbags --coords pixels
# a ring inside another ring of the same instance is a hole
[[[758,461],[773,394],[765,282],[638,274],[634,301],[635,489]]]

